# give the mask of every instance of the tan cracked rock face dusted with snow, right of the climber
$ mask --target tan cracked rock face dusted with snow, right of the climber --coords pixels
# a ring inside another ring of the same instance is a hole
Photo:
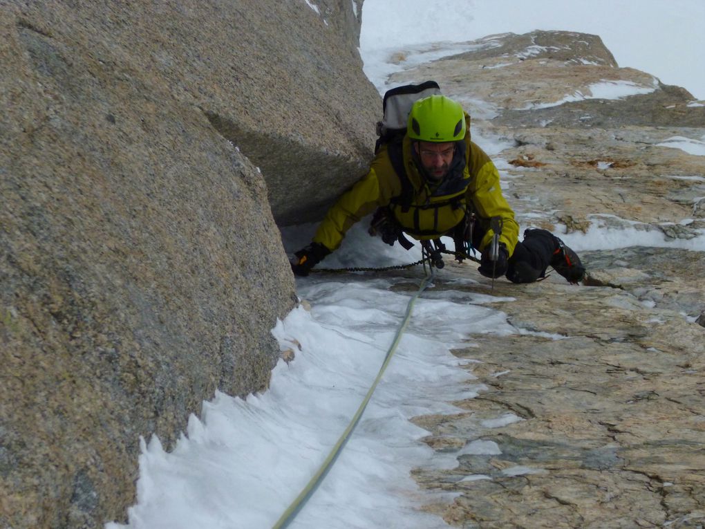
[[[463,528],[701,527],[705,254],[682,248],[705,229],[705,162],[667,145],[701,142],[705,107],[618,68],[589,35],[470,44],[393,81],[437,80],[475,130],[507,142],[505,195],[522,226],[628,229],[635,247],[582,253],[584,286],[557,274],[496,282],[494,294],[514,300],[492,306],[517,335],[473,336],[456,352],[479,360],[468,369],[486,391],[456,403],[462,413],[416,420],[429,446],[458,452],[457,468],[415,473],[457,494],[427,509]],[[605,85],[642,93],[597,97]],[[649,232],[682,248],[637,246]],[[460,273],[479,281],[468,289],[489,288],[474,270],[441,272],[437,288],[462,290]]]

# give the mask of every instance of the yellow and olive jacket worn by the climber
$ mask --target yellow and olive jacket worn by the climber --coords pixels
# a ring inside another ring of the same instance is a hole
[[[374,212],[378,207],[389,206],[405,233],[418,240],[438,238],[453,229],[465,215],[467,206],[486,230],[480,251],[494,236],[489,228],[491,217],[501,217],[503,228],[500,241],[505,243],[509,255],[514,253],[519,238],[519,225],[499,185],[499,173],[489,156],[470,140],[470,118],[467,117],[465,136],[465,169],[462,172],[460,191],[449,195],[438,195],[439,190],[430,188],[417,169],[412,157],[412,142],[403,140],[403,160],[407,176],[414,190],[410,209],[402,211],[393,199],[402,193],[402,183],[394,171],[386,145],[372,160],[369,171],[355,186],[343,193],[321,221],[313,241],[329,250],[341,245],[345,232],[357,221]],[[442,185],[442,184],[441,184]],[[464,188],[464,189],[462,189]],[[458,189],[458,186],[455,186]],[[449,202],[450,201],[450,202]],[[435,207],[434,204],[439,205]]]

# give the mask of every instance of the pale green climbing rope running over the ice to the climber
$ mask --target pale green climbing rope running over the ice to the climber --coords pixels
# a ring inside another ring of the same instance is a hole
[[[425,265],[424,265],[425,269]],[[402,320],[397,332],[396,336],[394,336],[394,340],[389,347],[386,356],[384,357],[384,362],[382,363],[382,366],[379,369],[379,373],[377,374],[377,377],[374,379],[374,382],[372,382],[372,387],[369,388],[367,391],[367,394],[364,396],[364,399],[362,400],[362,403],[360,404],[360,407],[357,408],[357,411],[355,412],[355,415],[353,415],[352,420],[350,420],[350,424],[348,427],[345,428],[345,431],[343,434],[341,434],[341,437],[338,439],[338,442],[333,446],[333,449],[331,449],[330,453],[324,460],[324,462],[321,464],[320,468],[316,471],[316,473],[313,475],[313,477],[309,480],[307,485],[303,488],[303,490],[300,492],[298,497],[294,499],[294,501],[288,506],[286,511],[281,515],[281,517],[278,519],[278,521],[272,526],[272,529],[283,529],[286,528],[295,518],[295,516],[301,511],[303,506],[306,504],[306,502],[313,496],[314,492],[318,488],[318,486],[323,482],[324,478],[326,478],[326,475],[328,474],[329,470],[331,470],[333,463],[335,463],[336,459],[338,456],[341,454],[341,451],[343,450],[343,446],[348,442],[348,439],[350,439],[351,434],[353,434],[353,430],[355,430],[355,427],[357,426],[357,423],[360,422],[360,418],[362,417],[362,413],[364,412],[364,409],[367,408],[367,403],[369,403],[369,399],[372,398],[372,394],[374,393],[374,390],[377,387],[377,384],[379,384],[379,381],[384,375],[384,371],[387,368],[387,365],[389,365],[389,362],[394,355],[397,346],[399,345],[399,342],[401,340],[401,336],[404,333],[407,325],[409,324],[409,320],[411,318],[411,312],[414,308],[414,305],[416,303],[416,300],[419,298],[421,293],[429,286],[431,281],[434,279],[434,267],[431,266],[429,269],[429,273],[427,276],[424,278],[422,281],[421,285],[419,286],[419,289],[416,291],[416,293],[412,296],[412,298],[409,300],[409,303],[407,304],[406,307],[406,312],[404,315],[404,319]]]

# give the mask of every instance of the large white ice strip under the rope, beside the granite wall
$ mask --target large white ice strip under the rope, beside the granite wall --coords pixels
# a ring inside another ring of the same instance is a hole
[[[408,293],[391,290],[396,281],[407,280],[300,280],[298,293],[311,310],[293,310],[273,330],[281,348],[298,344],[295,360],[276,365],[262,394],[239,399],[217,393],[200,419],[190,418],[171,453],[157,437],[142,441],[137,505],[128,511],[128,525],[106,529],[271,527],[324,461],[381,367],[409,300]],[[474,377],[460,368],[467,360],[450,348],[487,329],[513,332],[494,310],[460,300],[417,300],[360,424],[298,524],[445,527],[415,510],[410,470],[453,468],[457,461],[421,442],[428,432],[410,418],[458,413],[450,402],[486,391],[468,384]],[[498,447],[477,441],[465,451],[481,452],[497,454]],[[432,495],[424,492],[427,501]],[[340,507],[334,515],[330,505]]]

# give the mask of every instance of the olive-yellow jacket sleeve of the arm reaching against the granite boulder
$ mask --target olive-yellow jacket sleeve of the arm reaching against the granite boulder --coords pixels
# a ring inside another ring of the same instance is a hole
[[[383,150],[367,174],[328,210],[313,237],[314,243],[321,243],[331,251],[337,250],[353,224],[377,207],[388,205],[400,192],[401,184],[393,177],[391,162]]]

